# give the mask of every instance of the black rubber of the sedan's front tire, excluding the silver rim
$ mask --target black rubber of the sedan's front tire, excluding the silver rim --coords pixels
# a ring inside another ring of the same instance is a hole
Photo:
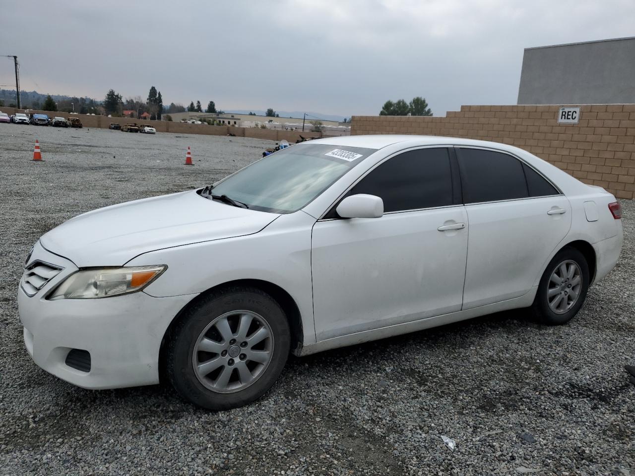
[[[271,327],[274,350],[265,372],[249,387],[236,393],[217,393],[204,387],[192,366],[192,352],[203,329],[218,316],[234,310],[249,310],[262,316]],[[290,349],[286,315],[277,302],[259,289],[234,289],[204,296],[185,313],[170,341],[168,377],[177,392],[207,409],[222,410],[246,405],[269,390],[286,364]]]

